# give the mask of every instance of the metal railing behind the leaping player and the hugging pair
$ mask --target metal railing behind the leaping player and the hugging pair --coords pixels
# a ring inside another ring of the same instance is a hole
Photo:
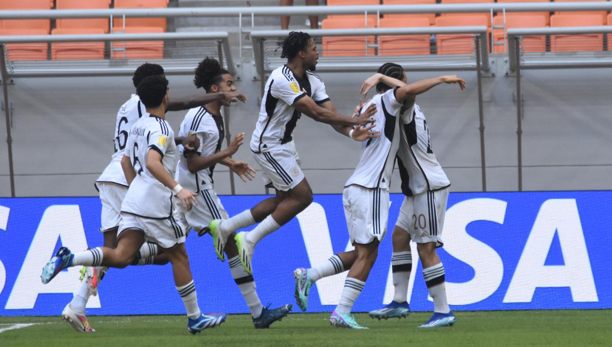
[[[478,82],[478,109],[479,109],[479,131],[480,131],[480,165],[482,173],[482,190],[487,191],[487,173],[485,165],[485,136],[484,116],[482,99],[482,72],[490,70],[488,55],[487,27],[430,27],[430,28],[380,28],[380,29],[311,29],[307,30],[312,37],[346,37],[346,36],[370,36],[370,35],[430,35],[430,34],[472,34],[474,35],[474,54],[440,54],[431,56],[429,54],[419,56],[384,56],[387,60],[392,59],[407,71],[476,71]],[[266,84],[266,72],[286,62],[280,57],[266,57],[266,42],[270,39],[286,37],[289,31],[252,31],[253,53],[258,72],[261,75],[261,93],[263,94]],[[377,45],[368,45],[367,47]],[[367,48],[366,48],[367,49]],[[376,72],[381,64],[381,56],[354,56],[354,57],[321,57],[318,60],[317,71],[327,72]]]

